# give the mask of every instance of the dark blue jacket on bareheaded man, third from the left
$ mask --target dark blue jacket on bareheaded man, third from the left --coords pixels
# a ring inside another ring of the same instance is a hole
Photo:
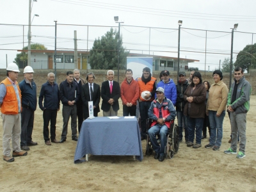
[[[44,106],[42,104],[44,100]],[[42,85],[38,98],[39,108],[44,109],[60,109],[59,86],[56,83],[50,84],[48,81]]]

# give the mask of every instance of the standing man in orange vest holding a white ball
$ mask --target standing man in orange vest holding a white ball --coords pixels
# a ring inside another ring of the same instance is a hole
[[[141,121],[141,140],[146,139],[147,131],[147,118],[148,109],[154,95],[156,93],[156,78],[152,77],[150,68],[145,67],[142,70],[142,76],[138,78],[138,84],[140,88],[139,106],[140,106],[140,121]]]

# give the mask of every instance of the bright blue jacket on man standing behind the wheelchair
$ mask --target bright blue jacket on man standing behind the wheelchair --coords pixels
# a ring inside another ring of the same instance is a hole
[[[157,83],[156,88],[159,88],[159,87],[164,89],[164,96],[167,99],[170,99],[173,103],[173,106],[175,106],[176,99],[177,99],[177,90],[176,90],[176,85],[173,82],[173,80],[169,79],[169,81],[167,83],[164,83],[164,81],[160,81],[159,83]],[[156,95],[155,95],[155,98],[156,98]]]

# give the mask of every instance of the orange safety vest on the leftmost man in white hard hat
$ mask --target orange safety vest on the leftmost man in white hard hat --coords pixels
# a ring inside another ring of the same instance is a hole
[[[6,95],[3,99],[1,112],[6,115],[18,114],[19,113],[18,99],[16,97],[13,84],[9,81],[8,78],[4,79],[1,83],[3,83],[6,87]],[[20,87],[17,82],[16,82],[16,86],[17,86],[17,89],[19,90],[20,110],[21,110],[21,94],[20,94]]]

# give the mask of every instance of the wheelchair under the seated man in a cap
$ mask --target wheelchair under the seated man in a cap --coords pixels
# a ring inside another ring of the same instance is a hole
[[[148,135],[148,130],[150,129],[152,124],[152,120],[147,120],[147,146],[146,146],[146,156],[150,156],[153,153],[153,147]],[[164,154],[165,157],[170,157],[172,159],[174,157],[174,154],[177,154],[179,150],[179,127],[177,124],[174,124],[174,120],[171,122],[170,129],[166,135],[167,142],[166,146],[164,147]],[[159,136],[157,139],[160,139]]]

